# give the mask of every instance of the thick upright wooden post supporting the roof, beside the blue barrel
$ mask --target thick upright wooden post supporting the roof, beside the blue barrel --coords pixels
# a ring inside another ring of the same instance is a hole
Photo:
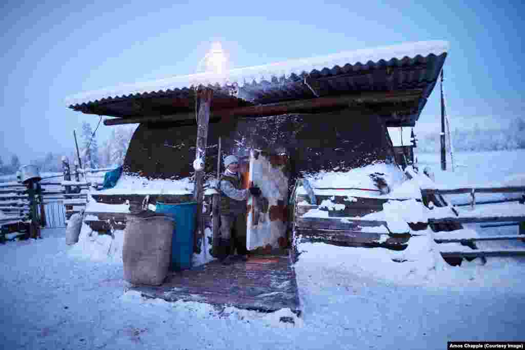
[[[208,144],[208,124],[209,109],[212,104],[213,90],[204,88],[198,90],[196,98],[198,99],[198,121],[197,121],[197,149],[195,150],[195,159],[201,159],[206,164],[206,146]],[[195,171],[195,187],[193,189],[193,199],[197,202],[197,229],[193,240],[193,251],[199,253],[201,250],[201,241],[204,227],[202,220],[202,202],[203,202],[203,183],[204,168]]]

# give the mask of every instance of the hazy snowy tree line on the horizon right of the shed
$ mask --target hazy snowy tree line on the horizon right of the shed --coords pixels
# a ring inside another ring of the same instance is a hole
[[[417,150],[419,152],[439,152],[440,130],[434,134],[416,135]],[[451,132],[454,151],[500,151],[525,149],[525,120],[514,119],[508,128],[481,129],[479,124],[469,129],[454,128]],[[446,135],[445,137],[448,137]],[[447,150],[448,150],[448,141]]]

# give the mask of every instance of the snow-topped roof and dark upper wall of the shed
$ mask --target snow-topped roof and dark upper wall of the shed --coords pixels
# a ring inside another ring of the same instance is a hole
[[[125,169],[150,178],[193,173],[196,91],[213,90],[206,177],[222,154],[247,147],[286,152],[292,177],[339,166],[341,171],[391,160],[386,127],[414,126],[447,56],[446,41],[205,72],[78,94],[68,107],[140,123]]]

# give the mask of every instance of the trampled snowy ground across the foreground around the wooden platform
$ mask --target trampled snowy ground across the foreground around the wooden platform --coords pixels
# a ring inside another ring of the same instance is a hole
[[[396,283],[366,270],[382,249],[360,260],[348,256],[352,248],[302,245],[296,272],[303,315],[293,325],[279,322],[293,319],[286,310],[262,314],[143,300],[124,293],[120,264],[71,258],[63,229],[42,236],[0,246],[0,344],[6,349],[442,349],[447,340],[523,340],[520,284],[477,285],[476,274],[469,281],[461,273],[463,285],[449,281],[456,287]],[[478,268],[490,269],[473,271]],[[452,271],[454,277],[463,270]]]

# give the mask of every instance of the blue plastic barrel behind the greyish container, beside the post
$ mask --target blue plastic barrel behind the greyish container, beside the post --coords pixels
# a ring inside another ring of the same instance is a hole
[[[196,224],[197,202],[191,201],[180,204],[157,202],[155,211],[175,219],[171,245],[171,270],[190,269],[192,267],[193,232]]]

